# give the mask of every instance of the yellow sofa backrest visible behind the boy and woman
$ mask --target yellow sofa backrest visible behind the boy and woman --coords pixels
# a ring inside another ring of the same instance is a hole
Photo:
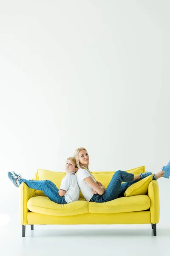
[[[127,170],[126,172],[134,173],[139,175],[141,172],[144,173],[145,166],[137,167],[134,169]],[[92,172],[95,179],[101,182],[106,188],[111,181],[112,176],[115,172]],[[65,172],[52,172],[48,170],[38,169],[35,174],[34,180],[51,180],[59,189],[63,177],[65,177]],[[33,196],[45,196],[41,190],[36,190]],[[80,192],[80,198],[84,198]]]

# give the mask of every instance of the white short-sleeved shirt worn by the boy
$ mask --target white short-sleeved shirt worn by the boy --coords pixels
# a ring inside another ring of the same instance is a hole
[[[66,191],[64,198],[67,203],[79,200],[79,186],[74,172],[68,173],[62,179],[60,189]]]

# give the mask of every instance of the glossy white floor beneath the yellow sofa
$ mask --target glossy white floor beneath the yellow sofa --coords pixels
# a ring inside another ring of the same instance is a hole
[[[36,225],[0,227],[0,256],[164,256],[170,255],[170,227],[157,225]]]

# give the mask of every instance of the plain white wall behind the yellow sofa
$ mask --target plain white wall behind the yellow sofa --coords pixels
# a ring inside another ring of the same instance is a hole
[[[40,168],[64,171],[78,147],[87,148],[91,171],[158,172],[167,164],[169,7],[0,1],[0,213],[18,214],[8,171],[26,178]],[[170,180],[159,187],[167,225]]]

